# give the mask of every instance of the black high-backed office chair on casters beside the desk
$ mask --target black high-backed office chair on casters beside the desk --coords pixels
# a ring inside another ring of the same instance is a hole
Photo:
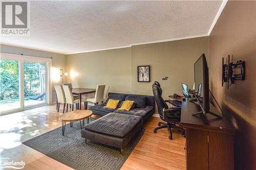
[[[168,108],[161,96],[162,89],[157,85],[157,83],[152,85],[152,90],[157,104],[159,116],[166,123],[159,122],[158,127],[154,129],[154,133],[156,133],[158,129],[168,128],[170,133],[169,139],[172,139],[173,133],[171,128],[174,128],[181,131],[182,136],[185,136],[184,129],[176,126],[176,124],[180,123],[181,108]]]

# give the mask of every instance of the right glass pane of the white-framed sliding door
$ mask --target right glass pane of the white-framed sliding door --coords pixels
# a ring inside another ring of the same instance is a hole
[[[33,107],[46,104],[46,64],[24,62],[24,105]]]

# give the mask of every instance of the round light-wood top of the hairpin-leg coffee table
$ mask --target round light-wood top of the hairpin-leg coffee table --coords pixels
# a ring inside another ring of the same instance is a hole
[[[90,117],[93,114],[91,110],[74,110],[63,113],[59,116],[62,122],[73,122]]]

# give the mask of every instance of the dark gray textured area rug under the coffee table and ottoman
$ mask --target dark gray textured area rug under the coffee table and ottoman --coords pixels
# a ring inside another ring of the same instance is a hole
[[[95,119],[90,119],[90,122]],[[138,133],[124,149],[120,150],[81,137],[80,123],[71,128],[66,125],[65,136],[61,127],[29,139],[23,144],[74,169],[120,169],[144,132]]]

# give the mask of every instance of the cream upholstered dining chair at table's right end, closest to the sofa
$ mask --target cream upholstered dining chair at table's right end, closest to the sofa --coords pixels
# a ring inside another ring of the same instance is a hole
[[[84,109],[87,109],[88,102],[92,102],[94,105],[99,104],[99,102],[103,102],[104,90],[105,85],[97,85],[95,96],[84,100]]]

